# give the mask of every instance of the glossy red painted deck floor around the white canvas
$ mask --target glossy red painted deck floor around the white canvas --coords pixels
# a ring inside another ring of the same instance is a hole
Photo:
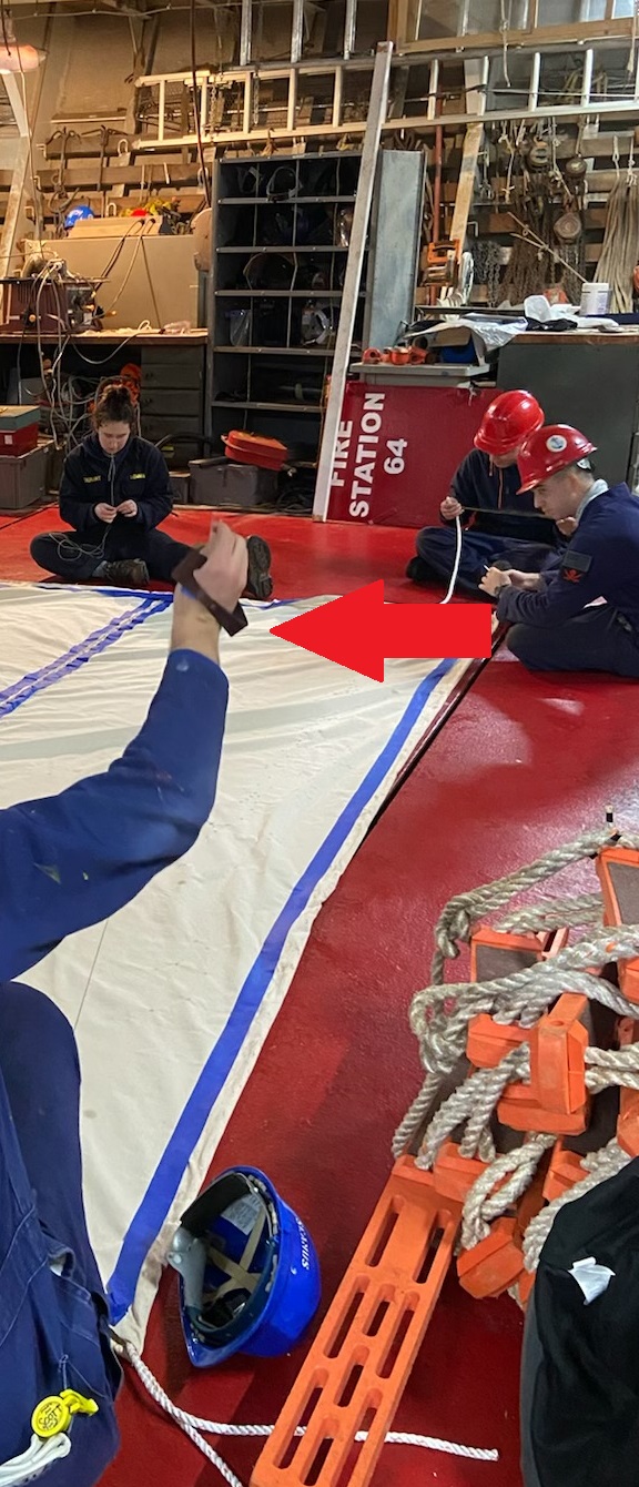
[[[343,529],[321,528],[317,535],[311,523],[297,522],[293,529],[293,522],[275,517],[269,537],[276,571],[287,572],[287,587],[296,578],[290,592],[299,595],[379,577],[382,553],[392,577],[406,550],[404,532],[401,543],[386,531],[358,531],[355,538],[351,531],[343,537]],[[16,541],[15,567],[7,571],[4,531],[1,575],[28,577],[28,561],[18,562],[19,534],[9,535]],[[325,1301],[383,1187],[392,1130],[418,1087],[407,1010],[428,980],[438,910],[452,894],[599,824],[609,803],[618,819],[636,822],[635,714],[632,684],[533,678],[498,653],[322,909],[229,1123],[215,1170],[247,1161],[269,1172],[309,1224]],[[498,1447],[501,1459],[474,1463],[386,1447],[374,1487],[517,1487],[520,1332],[514,1303],[473,1303],[449,1280],[397,1428]],[[275,1364],[247,1359],[218,1373],[190,1371],[174,1279],[165,1276],[146,1359],[183,1408],[218,1420],[272,1422],[302,1356],[299,1350]],[[131,1378],[120,1422],[123,1447],[107,1487],[214,1487],[220,1481]],[[256,1442],[223,1441],[220,1448],[248,1483]]]

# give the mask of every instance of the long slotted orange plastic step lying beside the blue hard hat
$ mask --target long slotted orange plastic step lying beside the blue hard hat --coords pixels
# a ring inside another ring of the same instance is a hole
[[[251,1477],[366,1487],[431,1320],[461,1222],[412,1157],[395,1163]],[[299,1428],[303,1435],[297,1435]],[[367,1439],[357,1442],[357,1433]]]

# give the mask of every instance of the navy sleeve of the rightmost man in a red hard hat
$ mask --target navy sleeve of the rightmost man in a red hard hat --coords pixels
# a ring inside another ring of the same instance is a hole
[[[591,537],[574,538],[557,572],[545,574],[545,586],[526,593],[505,587],[499,592],[496,617],[511,625],[554,629],[565,625],[605,593],[620,559],[618,541]]]

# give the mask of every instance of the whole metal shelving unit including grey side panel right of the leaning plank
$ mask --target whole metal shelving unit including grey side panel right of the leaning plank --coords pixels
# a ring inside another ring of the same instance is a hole
[[[318,458],[360,168],[360,150],[215,164],[205,406],[220,452],[242,428],[281,439],[296,462]],[[422,198],[424,156],[382,150],[374,202],[385,210],[372,213],[351,302],[354,360],[372,333],[394,343],[412,314]]]

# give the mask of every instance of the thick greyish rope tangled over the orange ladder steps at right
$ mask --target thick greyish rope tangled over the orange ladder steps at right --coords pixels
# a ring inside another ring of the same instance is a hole
[[[519,873],[511,873],[495,883],[483,885],[468,894],[459,894],[443,910],[437,928],[437,950],[432,961],[432,983],[418,992],[410,1007],[410,1026],[419,1039],[419,1054],[426,1078],[394,1141],[398,1155],[415,1139],[428,1118],[428,1111],[437,1100],[444,1078],[455,1075],[455,1066],[462,1063],[468,1025],[479,1013],[490,1014],[496,1023],[532,1028],[545,1010],[565,992],[578,992],[590,1001],[597,1001],[620,1017],[638,1020],[639,1010],[623,992],[608,981],[603,970],[611,962],[639,956],[639,923],[599,928],[600,895],[581,894],[568,898],[544,898],[536,904],[514,909],[499,922],[499,929],[519,932],[523,929],[547,931],[562,926],[588,929],[587,938],[568,946],[557,956],[541,961],[523,971],[492,981],[464,981],[446,984],[446,961],[459,955],[459,947],[468,943],[474,926],[489,913],[504,907],[511,898],[550,877],[565,867],[596,857],[605,846],[618,845],[639,848],[639,837],[621,834],[611,827],[602,833],[584,833],[575,842],[548,852]],[[586,1086],[599,1093],[609,1086],[639,1090],[639,1044],[621,1050],[587,1048]],[[464,1206],[462,1248],[471,1249],[489,1234],[490,1221],[519,1203],[529,1187],[536,1167],[556,1136],[531,1133],[514,1151],[495,1155],[490,1132],[490,1117],[508,1083],[529,1078],[529,1047],[522,1044],[511,1050],[495,1069],[480,1069],[447,1096],[435,1111],[424,1135],[416,1166],[431,1167],[443,1142],[464,1126],[459,1149],[465,1157],[477,1152],[489,1161],[486,1172],[473,1185]],[[581,1166],[586,1176],[565,1194],[547,1204],[532,1219],[525,1236],[526,1268],[535,1270],[545,1237],[554,1216],[563,1203],[574,1201],[591,1191],[599,1182],[620,1172],[630,1158],[617,1141],[603,1151],[584,1157]]]

